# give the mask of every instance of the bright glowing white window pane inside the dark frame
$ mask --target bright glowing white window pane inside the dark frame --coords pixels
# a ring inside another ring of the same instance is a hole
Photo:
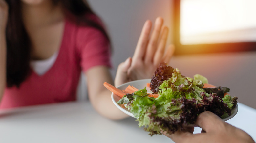
[[[181,0],[181,44],[256,41],[256,0]]]

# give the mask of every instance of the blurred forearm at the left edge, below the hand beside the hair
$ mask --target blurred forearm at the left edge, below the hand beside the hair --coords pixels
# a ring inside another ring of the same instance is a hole
[[[6,85],[6,36],[0,32],[0,101]]]

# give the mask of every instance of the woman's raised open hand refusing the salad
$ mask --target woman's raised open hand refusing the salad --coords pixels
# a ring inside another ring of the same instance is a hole
[[[133,57],[120,63],[115,78],[115,86],[123,83],[151,78],[160,62],[169,63],[174,46],[166,47],[168,28],[163,26],[163,19],[158,17],[150,35],[152,23],[147,20],[142,28]]]

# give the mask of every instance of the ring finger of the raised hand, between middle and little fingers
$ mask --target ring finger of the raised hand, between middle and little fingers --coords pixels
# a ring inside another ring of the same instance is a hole
[[[158,45],[158,48],[157,48],[157,51],[156,51],[156,54],[155,54],[154,60],[153,60],[154,65],[158,65],[163,58],[165,45],[166,45],[166,41],[167,41],[167,36],[168,36],[168,31],[169,31],[169,29],[167,27],[163,28],[160,42],[159,42],[159,45]]]

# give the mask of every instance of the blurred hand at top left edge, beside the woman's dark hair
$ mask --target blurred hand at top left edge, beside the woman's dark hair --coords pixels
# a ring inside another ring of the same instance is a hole
[[[0,0],[0,30],[5,30],[7,19],[8,19],[8,5],[5,0]]]

